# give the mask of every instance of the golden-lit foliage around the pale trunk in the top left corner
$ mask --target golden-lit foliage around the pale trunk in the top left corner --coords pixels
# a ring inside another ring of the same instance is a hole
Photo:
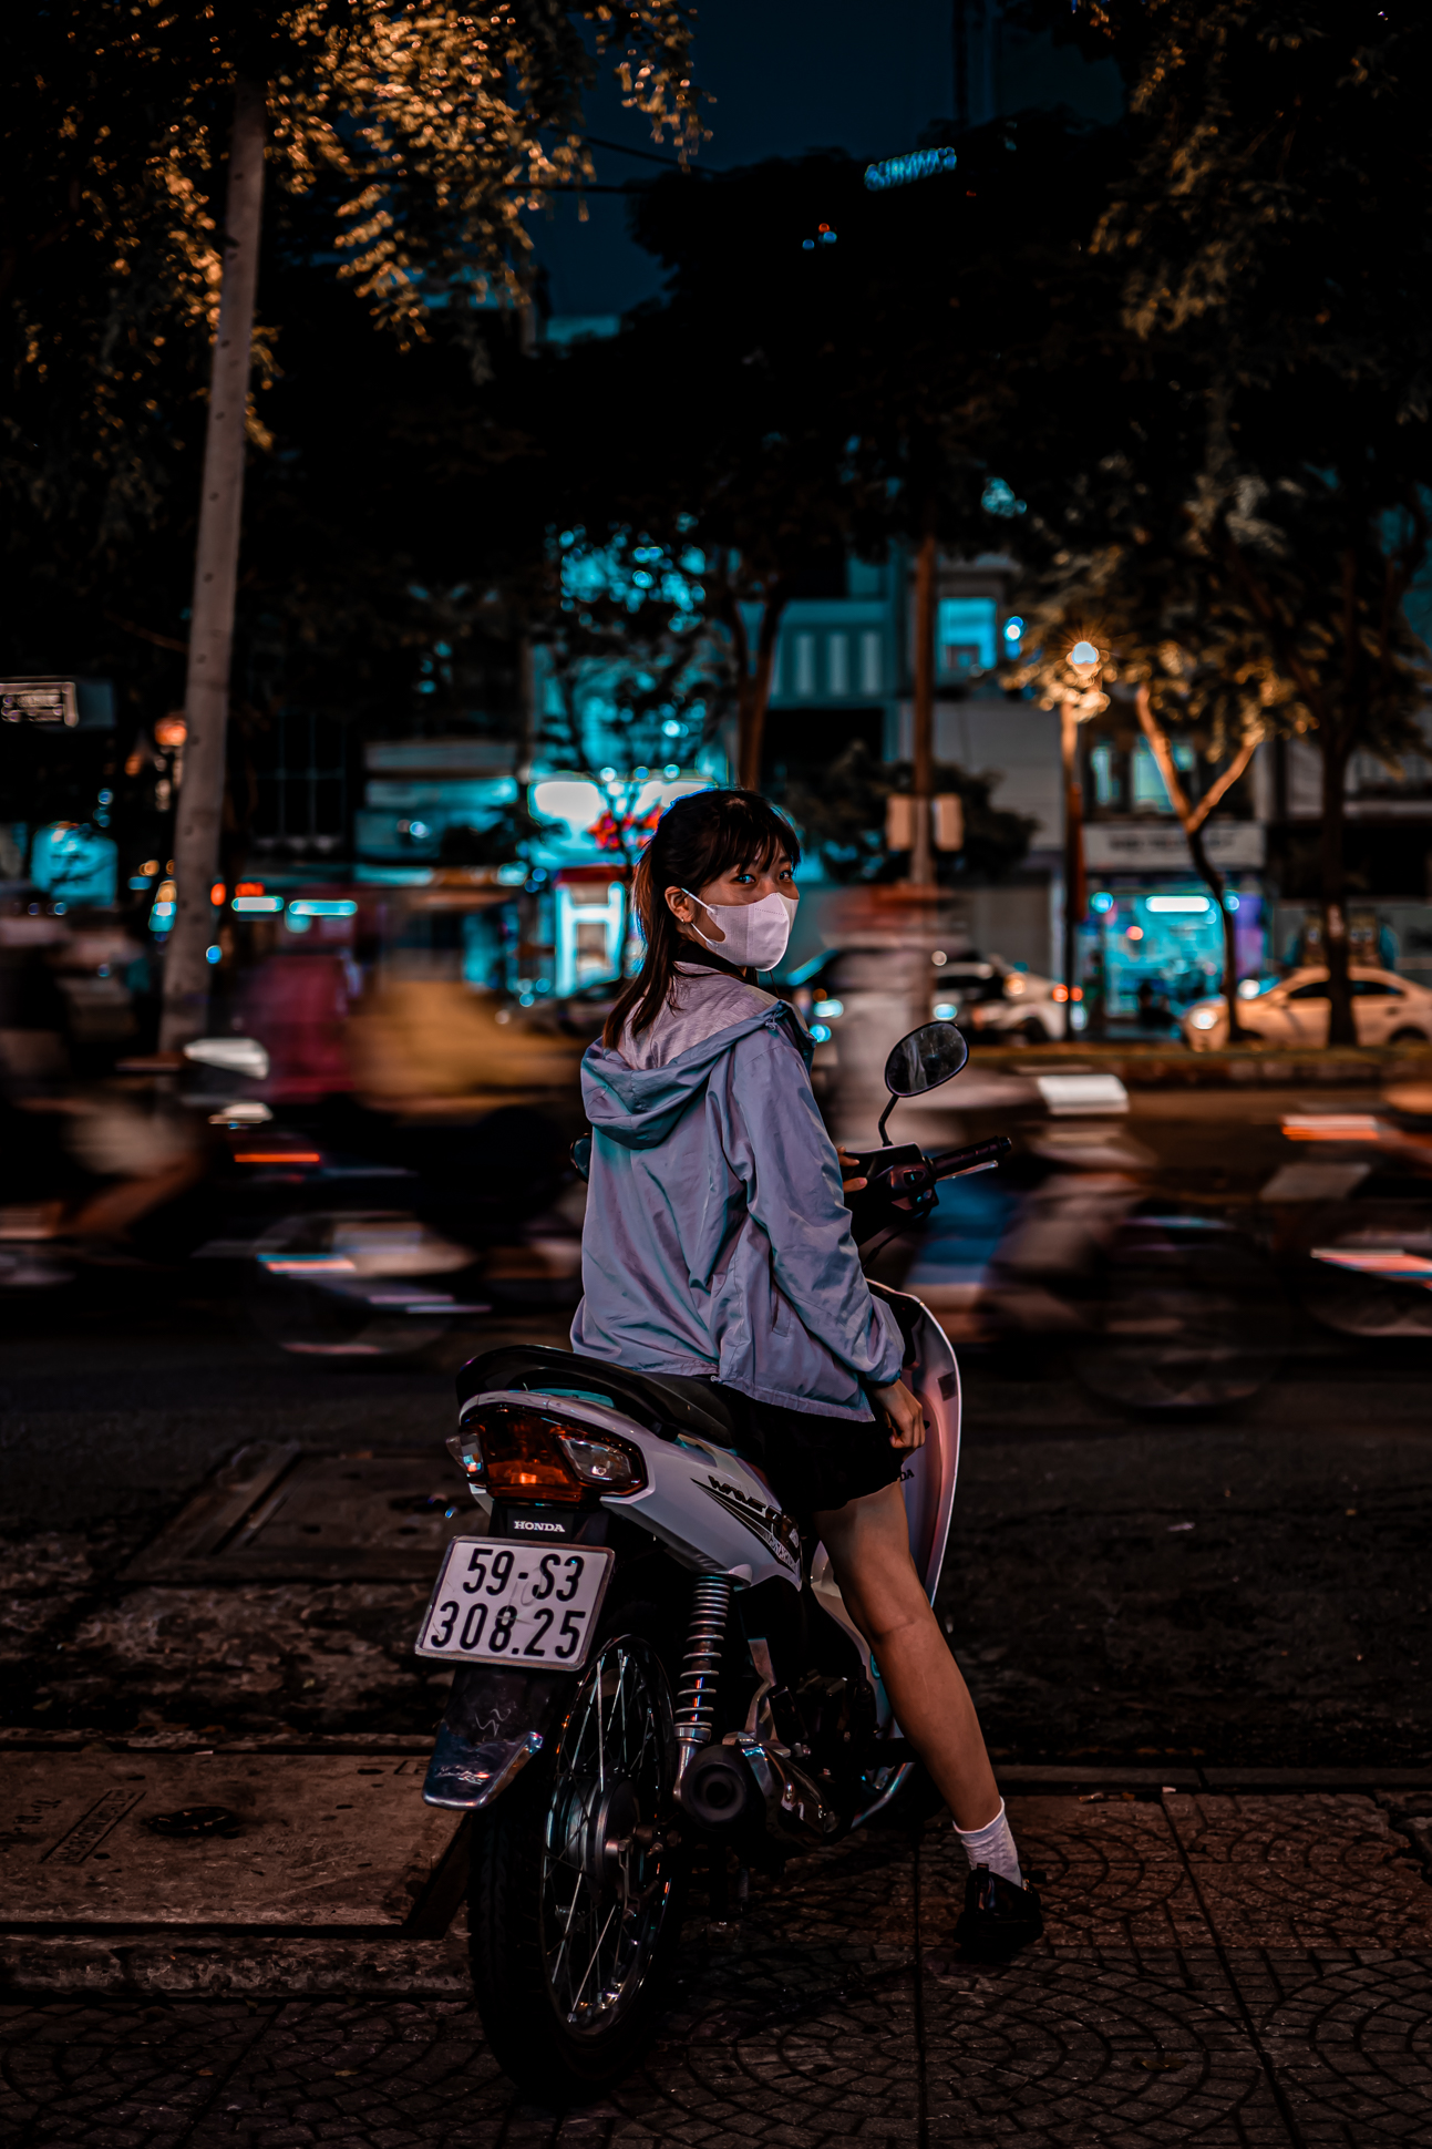
[[[634,0],[619,11],[596,0],[441,0],[421,11],[378,0],[209,0],[202,9],[75,0],[24,11],[0,75],[0,559],[15,600],[4,660],[54,668],[80,647],[129,673],[140,692],[172,692],[159,686],[172,666],[148,664],[146,677],[133,643],[148,636],[159,649],[185,638],[178,615],[191,572],[241,73],[267,84],[271,125],[249,438],[258,456],[312,462],[329,453],[338,415],[348,421],[342,453],[331,456],[338,559],[305,550],[305,591],[284,612],[288,621],[305,612],[307,625],[288,640],[301,645],[320,610],[320,640],[342,643],[348,621],[370,640],[368,561],[355,563],[344,542],[344,509],[363,479],[398,509],[381,580],[389,628],[404,640],[411,621],[393,625],[393,615],[404,610],[409,580],[421,580],[413,559],[432,548],[398,499],[398,464],[374,468],[381,456],[372,451],[396,449],[404,428],[409,445],[436,451],[434,419],[454,400],[452,378],[443,380],[449,355],[471,404],[469,367],[475,359],[486,370],[484,322],[492,320],[475,305],[492,286],[510,297],[520,290],[531,251],[522,217],[550,187],[589,170],[583,92],[602,60],[656,133],[669,127],[694,146],[688,43],[679,0]],[[383,395],[393,372],[372,348],[368,316],[396,327],[396,344],[434,350],[434,365],[402,376],[396,410]],[[335,340],[318,355],[325,329]],[[286,402],[275,393],[277,346],[284,372],[310,370]],[[331,413],[312,393],[314,367]],[[434,380],[436,406],[426,400]],[[314,432],[295,434],[295,417]],[[497,462],[486,441],[484,468]],[[419,492],[436,477],[432,468],[409,475]],[[292,492],[292,479],[286,464],[273,492]],[[312,539],[323,505],[310,494],[303,507],[297,529]],[[363,537],[374,522],[359,503]],[[282,537],[282,520],[262,535]],[[252,518],[247,537],[241,604],[252,619],[252,574],[262,559]],[[280,546],[286,557],[295,550]],[[338,604],[325,606],[320,591]],[[142,632],[118,628],[116,640],[101,612]],[[112,651],[125,647],[131,662],[116,664]]]

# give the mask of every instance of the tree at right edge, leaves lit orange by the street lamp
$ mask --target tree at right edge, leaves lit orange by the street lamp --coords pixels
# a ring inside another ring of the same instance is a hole
[[[1432,19],[1359,0],[1107,0],[1131,159],[1092,234],[1131,337],[1122,438],[1030,479],[1028,666],[1075,636],[1103,683],[1219,748],[1305,733],[1324,763],[1331,1040],[1346,984],[1344,784],[1423,744],[1404,602],[1432,488]],[[1148,393],[1148,385],[1157,389]]]

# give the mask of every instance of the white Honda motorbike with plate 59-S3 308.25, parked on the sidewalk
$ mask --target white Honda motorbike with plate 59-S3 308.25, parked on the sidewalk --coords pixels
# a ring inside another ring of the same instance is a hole
[[[858,1242],[1011,1148],[888,1141],[897,1098],[965,1057],[953,1023],[890,1053],[884,1148],[862,1156],[851,1199]],[[871,1289],[925,1410],[903,1494],[933,1601],[959,1369],[918,1298]],[[447,1446],[488,1519],[447,1547],[417,1638],[456,1674],[424,1799],[473,1814],[471,1962],[492,2052],[544,2102],[578,2100],[656,2024],[692,1855],[705,1850],[720,1900],[731,1865],[778,1865],[862,1827],[914,1756],[824,1545],[802,1554],[710,1382],[510,1345],[462,1369],[458,1399]]]

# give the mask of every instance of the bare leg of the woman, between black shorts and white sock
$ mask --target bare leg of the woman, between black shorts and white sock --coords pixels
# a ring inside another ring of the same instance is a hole
[[[983,1829],[1000,1812],[1000,1790],[970,1689],[910,1558],[899,1485],[826,1509],[815,1528],[845,1607],[875,1650],[899,1726],[955,1827]]]

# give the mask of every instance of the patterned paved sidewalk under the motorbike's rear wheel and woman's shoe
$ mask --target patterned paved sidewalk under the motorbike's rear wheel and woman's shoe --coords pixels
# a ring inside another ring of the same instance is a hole
[[[1049,1932],[1000,1971],[950,1947],[948,1827],[854,1837],[755,1883],[740,1923],[692,1923],[647,2063],[565,2119],[514,2097],[462,1999],[17,1999],[0,2128],[15,2149],[1410,2149],[1432,1887],[1395,1807],[1011,1801]]]

